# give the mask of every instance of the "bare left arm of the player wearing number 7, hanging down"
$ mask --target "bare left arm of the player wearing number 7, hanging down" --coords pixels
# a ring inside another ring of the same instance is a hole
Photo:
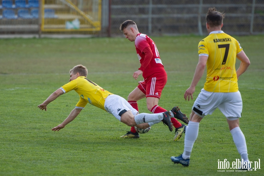
[[[206,67],[207,59],[208,59],[208,56],[199,56],[199,62],[196,66],[191,86],[185,91],[185,94],[184,94],[185,100],[187,100],[187,97],[188,97],[188,101],[189,101],[190,96],[193,99],[192,94],[194,93],[196,85],[198,84],[198,82],[200,81],[200,79],[202,78],[204,74],[204,69]]]

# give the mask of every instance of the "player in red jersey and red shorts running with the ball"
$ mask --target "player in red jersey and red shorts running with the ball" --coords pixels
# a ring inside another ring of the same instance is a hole
[[[136,52],[141,63],[138,71],[135,71],[133,78],[137,79],[142,74],[144,80],[138,82],[138,86],[128,95],[128,103],[138,110],[137,101],[145,98],[147,100],[147,108],[152,113],[165,112],[164,108],[158,106],[161,92],[167,82],[167,73],[160,60],[160,55],[154,41],[146,34],[139,33],[137,25],[134,21],[126,20],[120,25],[120,31],[124,33],[129,41],[135,41]],[[181,135],[185,133],[186,125],[181,124],[175,118],[189,123],[188,118],[178,107],[172,108],[171,121],[175,127],[174,141],[179,140]],[[150,126],[159,123],[151,122]],[[139,138],[139,134],[134,127],[121,138]]]

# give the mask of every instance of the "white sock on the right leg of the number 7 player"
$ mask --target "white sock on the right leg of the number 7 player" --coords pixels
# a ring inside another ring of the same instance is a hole
[[[230,130],[230,133],[233,137],[234,143],[236,144],[236,148],[241,155],[241,158],[244,161],[249,161],[246,139],[241,129],[239,127],[233,128]]]

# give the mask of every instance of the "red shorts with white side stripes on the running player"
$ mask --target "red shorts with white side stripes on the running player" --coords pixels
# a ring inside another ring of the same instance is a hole
[[[138,85],[138,88],[146,95],[146,97],[156,97],[160,99],[161,92],[166,83],[167,75],[147,78]]]

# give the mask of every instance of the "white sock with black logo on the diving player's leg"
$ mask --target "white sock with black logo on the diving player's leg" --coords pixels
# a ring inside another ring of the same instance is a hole
[[[140,113],[138,115],[135,115],[135,121],[137,125],[141,123],[149,123],[154,121],[161,122],[161,120],[163,120],[163,113],[158,113],[158,114]]]

